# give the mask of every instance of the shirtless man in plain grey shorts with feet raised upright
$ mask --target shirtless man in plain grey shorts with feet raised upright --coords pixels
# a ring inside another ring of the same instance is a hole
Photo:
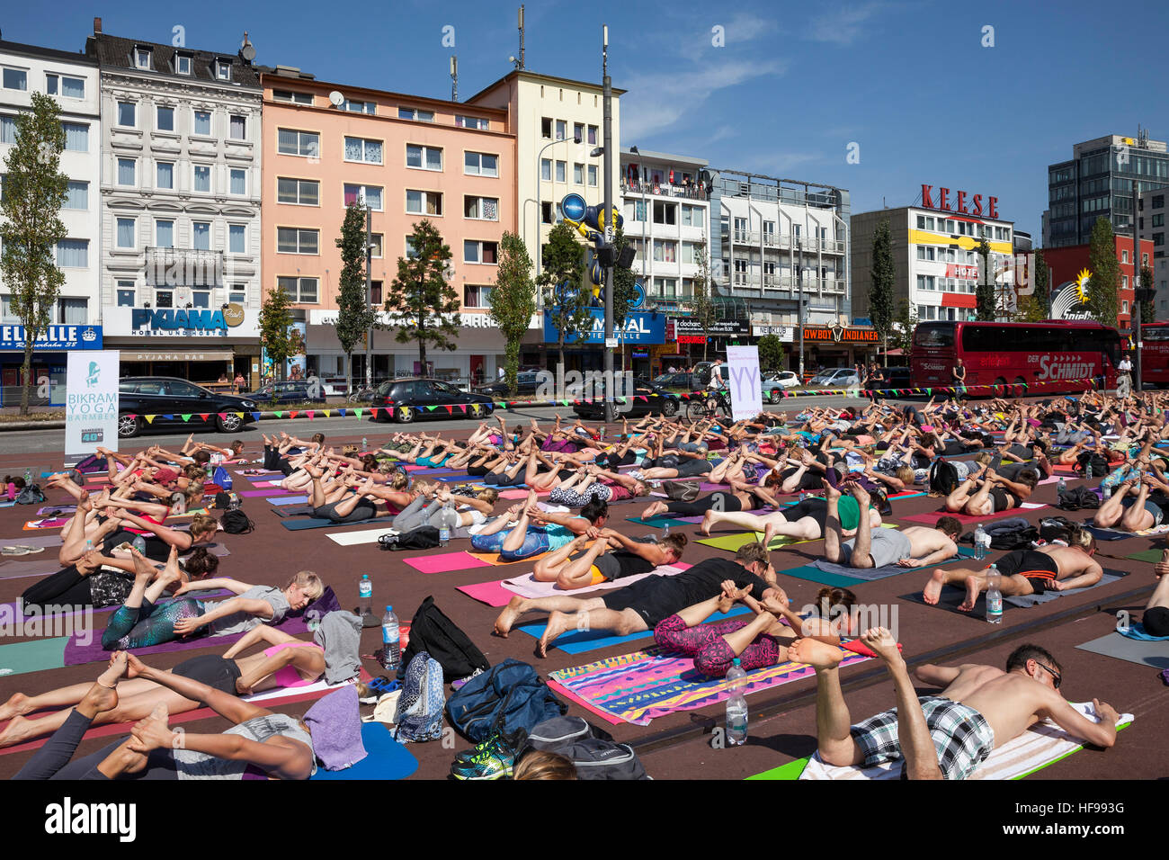
[[[869,493],[856,481],[846,484],[862,510],[869,507]],[[873,529],[867,517],[857,523],[857,536],[842,543],[838,512],[841,491],[824,482],[828,498],[828,521],[824,529],[824,557],[832,564],[871,569],[899,564],[902,567],[922,567],[939,564],[957,555],[954,542],[962,534],[962,524],[954,517],[941,517],[934,528],[909,525],[905,529]]]

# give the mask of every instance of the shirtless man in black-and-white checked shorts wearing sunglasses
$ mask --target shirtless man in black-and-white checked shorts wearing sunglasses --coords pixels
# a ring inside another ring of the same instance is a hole
[[[866,631],[860,641],[885,661],[897,692],[897,708],[852,725],[841,690],[838,663],[844,653],[814,639],[788,646],[788,659],[816,669],[817,752],[824,764],[873,766],[904,758],[907,779],[966,779],[991,750],[1042,720],[1098,747],[1116,742],[1118,714],[1093,699],[1100,722],[1080,715],[1058,693],[1059,663],[1037,645],[1022,645],[994,666],[920,666],[919,681],[945,687],[938,695],[916,695],[893,635],[884,627]]]

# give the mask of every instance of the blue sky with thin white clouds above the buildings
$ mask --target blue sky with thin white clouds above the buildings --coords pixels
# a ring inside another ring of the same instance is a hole
[[[257,62],[317,77],[449,97],[448,59],[465,98],[506,74],[518,2],[332,6],[303,0],[61,0],[6,9],[4,39],[76,50],[101,15],[106,33],[223,50],[248,30]],[[526,8],[527,68],[600,80],[601,25],[622,98],[622,145],[712,165],[823,181],[852,211],[912,202],[921,183],[998,198],[1003,218],[1039,239],[1046,166],[1079,140],[1169,138],[1169,7],[1130,2],[595,2]],[[359,9],[354,19],[348,9]],[[712,11],[714,9],[714,11]],[[455,47],[443,47],[454,27]],[[994,27],[994,47],[983,28]],[[712,28],[721,27],[715,47]],[[848,164],[850,143],[859,164]]]

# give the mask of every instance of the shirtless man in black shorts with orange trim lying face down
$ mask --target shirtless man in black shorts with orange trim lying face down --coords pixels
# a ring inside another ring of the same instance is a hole
[[[1075,529],[1070,546],[1049,544],[1035,550],[1015,550],[998,559],[999,590],[1003,597],[1042,594],[1047,589],[1067,591],[1095,585],[1104,576],[1104,569],[1092,558],[1095,538],[1090,531]],[[990,569],[935,567],[926,583],[921,597],[927,604],[936,604],[945,585],[966,585],[966,600],[959,606],[969,612],[987,590]]]

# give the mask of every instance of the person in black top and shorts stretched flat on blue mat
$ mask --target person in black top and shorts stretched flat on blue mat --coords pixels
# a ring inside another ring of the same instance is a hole
[[[762,544],[739,548],[734,560],[707,558],[673,576],[650,575],[624,589],[606,591],[595,597],[513,597],[496,619],[494,634],[506,637],[520,615],[531,611],[548,612],[544,635],[537,646],[547,656],[548,645],[570,629],[608,629],[616,635],[653,629],[663,619],[687,606],[718,597],[722,583],[734,587],[753,586],[760,601],[777,598],[775,569]]]

